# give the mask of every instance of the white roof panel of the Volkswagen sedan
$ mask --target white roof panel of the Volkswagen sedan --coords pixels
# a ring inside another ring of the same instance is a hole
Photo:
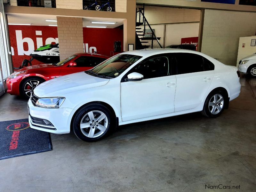
[[[194,53],[202,56],[206,56],[205,54],[197,51],[187,50],[187,49],[140,49],[140,50],[134,50],[134,51],[128,51],[125,52],[125,54],[131,54],[131,55],[139,55],[142,57],[149,57],[156,54],[162,54],[162,53]]]

